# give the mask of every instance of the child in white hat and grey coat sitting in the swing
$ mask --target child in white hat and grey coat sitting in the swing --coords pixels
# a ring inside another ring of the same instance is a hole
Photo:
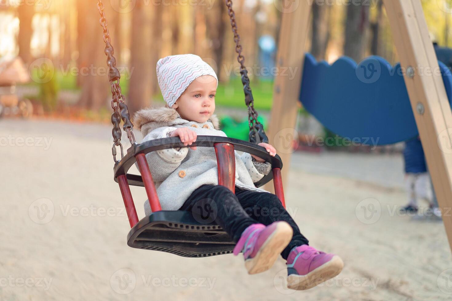
[[[186,146],[146,155],[162,209],[210,208],[237,243],[234,255],[243,252],[250,274],[269,269],[279,254],[287,259],[290,288],[308,289],[339,274],[342,259],[309,246],[278,197],[254,186],[270,172],[269,162],[235,153],[234,194],[218,185],[214,148],[189,146],[198,135],[226,137],[213,114],[218,86],[213,69],[193,54],[166,56],[157,62],[157,78],[167,106],[138,111],[134,124],[143,141],[178,136]],[[276,155],[270,144],[259,145]],[[147,201],[145,211],[151,213]]]

